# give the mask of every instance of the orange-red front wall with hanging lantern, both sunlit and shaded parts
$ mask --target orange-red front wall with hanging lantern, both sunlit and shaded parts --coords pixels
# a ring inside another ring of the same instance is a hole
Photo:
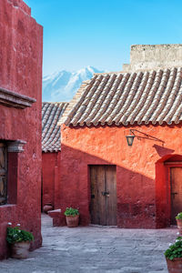
[[[164,140],[164,147],[160,142],[137,138],[128,147],[129,128],[62,126],[60,195],[56,198],[56,208],[79,207],[81,224],[89,224],[88,165],[113,164],[116,165],[117,226],[169,225],[169,188],[163,161],[175,154],[182,155],[181,125],[132,127]]]

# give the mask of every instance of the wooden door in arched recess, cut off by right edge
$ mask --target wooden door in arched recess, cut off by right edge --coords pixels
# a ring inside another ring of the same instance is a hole
[[[177,225],[177,213],[182,211],[182,167],[170,167],[171,224]]]

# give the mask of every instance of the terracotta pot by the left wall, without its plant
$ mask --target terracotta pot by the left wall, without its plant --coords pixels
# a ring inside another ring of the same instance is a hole
[[[30,248],[30,242],[18,242],[11,245],[11,257],[12,258],[27,258]]]

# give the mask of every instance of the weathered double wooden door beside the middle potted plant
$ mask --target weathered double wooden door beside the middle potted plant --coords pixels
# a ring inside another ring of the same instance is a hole
[[[90,166],[91,223],[116,226],[116,166]]]

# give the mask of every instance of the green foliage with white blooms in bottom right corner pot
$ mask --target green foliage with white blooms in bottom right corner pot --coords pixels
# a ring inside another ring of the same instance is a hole
[[[174,244],[169,244],[165,256],[170,260],[173,260],[174,258],[182,258],[182,237],[177,237]]]

